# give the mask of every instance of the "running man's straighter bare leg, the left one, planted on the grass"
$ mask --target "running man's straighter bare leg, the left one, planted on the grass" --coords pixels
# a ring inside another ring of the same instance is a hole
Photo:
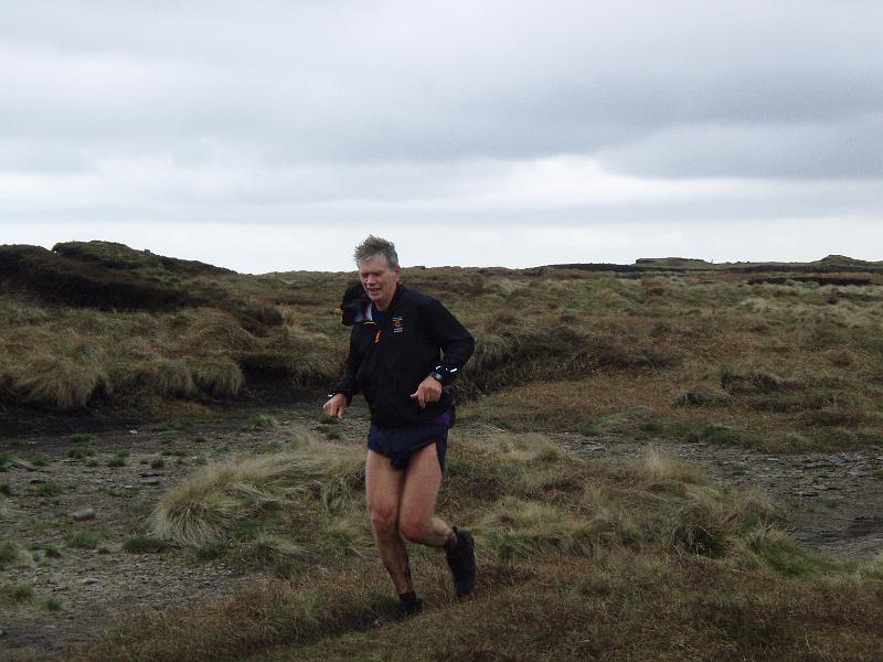
[[[414,590],[407,549],[398,527],[404,484],[404,472],[393,469],[390,458],[373,450],[368,451],[365,495],[371,513],[371,527],[374,530],[380,558],[400,596]]]

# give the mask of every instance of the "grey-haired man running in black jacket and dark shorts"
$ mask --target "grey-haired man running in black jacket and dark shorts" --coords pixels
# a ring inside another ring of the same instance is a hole
[[[343,377],[325,412],[343,418],[353,395],[371,410],[365,493],[380,557],[398,602],[374,621],[382,626],[423,610],[414,590],[405,540],[443,547],[457,597],[472,592],[476,555],[471,534],[435,515],[445,470],[454,402],[445,389],[472,354],[475,341],[442,303],[398,282],[395,245],[369,236],[357,246],[361,288],[343,300],[352,324]]]

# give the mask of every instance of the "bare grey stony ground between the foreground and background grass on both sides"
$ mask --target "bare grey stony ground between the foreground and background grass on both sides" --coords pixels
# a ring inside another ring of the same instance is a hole
[[[76,446],[70,435],[20,440],[0,473],[10,493],[0,540],[18,543],[26,554],[0,570],[0,584],[30,584],[33,597],[0,602],[0,659],[58,652],[98,638],[121,616],[228,594],[260,574],[201,562],[187,549],[137,554],[124,544],[149,534],[149,515],[160,495],[206,461],[272,450],[304,434],[362,442],[363,408],[353,407],[347,421],[328,426],[319,420],[319,406],[238,412],[184,429],[174,429],[182,426],[171,420],[103,433],[81,444],[94,453],[82,458],[70,456]],[[490,434],[492,428],[475,423],[456,430]],[[553,438],[591,459],[637,457],[655,446],[702,467],[714,480],[767,491],[792,534],[827,555],[864,559],[883,552],[881,450],[774,457],[666,439]],[[125,465],[114,467],[121,450],[128,451]],[[94,540],[76,546],[75,534]]]

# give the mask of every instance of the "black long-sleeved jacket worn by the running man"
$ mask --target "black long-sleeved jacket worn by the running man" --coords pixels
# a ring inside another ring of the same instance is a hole
[[[361,300],[363,308],[354,316],[347,369],[333,392],[344,394],[348,403],[361,392],[371,420],[384,427],[444,414],[451,404],[447,391],[439,402],[426,403],[425,409],[411,394],[438,365],[456,374],[472,354],[472,337],[437,299],[403,285],[396,288],[382,325],[366,319],[365,302],[366,298]],[[344,308],[344,323],[352,319]]]

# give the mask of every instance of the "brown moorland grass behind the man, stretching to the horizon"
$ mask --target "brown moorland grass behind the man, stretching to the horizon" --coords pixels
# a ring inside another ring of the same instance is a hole
[[[58,253],[106,278],[131,273],[199,296],[115,312],[0,296],[0,350],[14,357],[0,364],[2,402],[158,412],[234,397],[248,374],[316,388],[339,375],[348,330],[336,307],[352,274],[243,276],[103,243]],[[402,278],[474,332],[458,398],[501,409],[488,419],[503,427],[578,431],[591,420],[632,434],[623,419],[641,406],[658,434],[680,438],[720,424],[743,430],[725,442],[767,451],[881,442],[880,265],[698,264],[408,268]],[[558,397],[555,383],[578,391]],[[498,406],[507,398],[511,413]]]

